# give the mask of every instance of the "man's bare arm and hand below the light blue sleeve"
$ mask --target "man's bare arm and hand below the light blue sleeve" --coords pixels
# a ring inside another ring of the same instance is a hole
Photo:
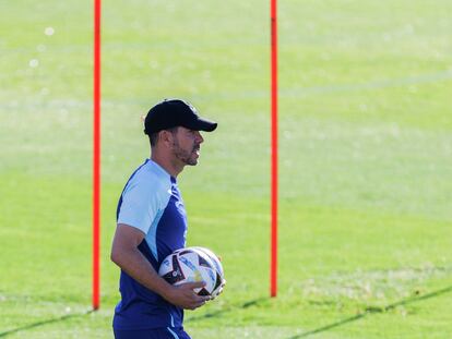
[[[158,276],[151,263],[138,250],[143,239],[144,233],[139,229],[118,223],[111,246],[111,261],[138,282],[176,306],[194,310],[210,300],[209,296],[198,295],[193,291],[204,286],[202,281],[173,286]]]

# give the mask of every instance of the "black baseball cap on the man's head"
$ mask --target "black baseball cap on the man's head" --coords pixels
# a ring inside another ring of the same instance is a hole
[[[212,132],[216,125],[216,122],[199,117],[197,109],[189,102],[180,99],[165,99],[147,112],[144,120],[144,133],[152,134],[176,126]]]

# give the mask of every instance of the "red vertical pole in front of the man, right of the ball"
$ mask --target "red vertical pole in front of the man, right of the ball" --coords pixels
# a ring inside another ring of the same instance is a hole
[[[270,274],[270,295],[277,291],[277,31],[276,0],[271,0],[271,45],[272,45],[272,258]]]

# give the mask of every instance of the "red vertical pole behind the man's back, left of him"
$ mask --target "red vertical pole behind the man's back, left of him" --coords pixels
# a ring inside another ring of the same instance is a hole
[[[100,0],[94,0],[93,78],[93,310],[98,310],[100,294]]]

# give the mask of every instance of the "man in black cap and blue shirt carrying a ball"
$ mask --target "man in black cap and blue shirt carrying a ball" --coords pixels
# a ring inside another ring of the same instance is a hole
[[[121,268],[117,339],[190,338],[182,327],[183,308],[194,310],[210,299],[193,291],[204,282],[171,286],[157,271],[167,255],[186,245],[187,216],[176,178],[185,166],[198,164],[200,131],[216,126],[179,99],[157,104],[145,118],[151,158],[122,191],[111,246],[111,261]]]

